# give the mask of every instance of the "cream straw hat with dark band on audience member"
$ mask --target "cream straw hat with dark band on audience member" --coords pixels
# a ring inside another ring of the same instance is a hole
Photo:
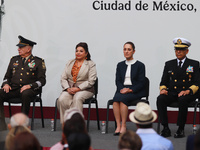
[[[135,111],[130,113],[129,119],[136,124],[150,124],[157,119],[157,115],[148,104],[139,102]]]

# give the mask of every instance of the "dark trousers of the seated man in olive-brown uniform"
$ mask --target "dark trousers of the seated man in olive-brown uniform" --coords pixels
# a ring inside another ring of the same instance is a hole
[[[11,90],[9,93],[4,92],[3,89],[0,89],[0,119],[4,119],[4,101],[9,100],[10,98],[20,98],[22,101],[22,112],[26,115],[29,114],[30,102],[33,100],[34,96],[39,94],[39,91],[34,91],[28,89],[20,93],[20,89]]]

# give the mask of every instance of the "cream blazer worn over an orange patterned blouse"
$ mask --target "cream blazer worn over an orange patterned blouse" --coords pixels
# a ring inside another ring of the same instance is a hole
[[[67,88],[70,88],[73,85],[73,77],[71,71],[75,61],[75,59],[70,60],[66,64],[64,72],[61,75],[61,86],[63,90],[66,90]],[[91,91],[96,81],[96,78],[96,64],[92,60],[84,60],[81,69],[79,70],[79,73],[77,75],[75,86],[79,87],[81,90]]]

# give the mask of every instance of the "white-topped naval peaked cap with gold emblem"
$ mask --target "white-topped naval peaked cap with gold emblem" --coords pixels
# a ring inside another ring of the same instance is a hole
[[[181,37],[173,39],[173,43],[175,48],[188,48],[191,46],[190,41]]]

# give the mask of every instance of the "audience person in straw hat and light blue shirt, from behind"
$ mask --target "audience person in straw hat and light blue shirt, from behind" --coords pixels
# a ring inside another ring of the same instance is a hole
[[[141,150],[174,150],[172,142],[160,135],[153,129],[153,122],[157,115],[151,107],[139,102],[134,112],[130,113],[129,119],[137,126],[136,133],[142,140]]]

